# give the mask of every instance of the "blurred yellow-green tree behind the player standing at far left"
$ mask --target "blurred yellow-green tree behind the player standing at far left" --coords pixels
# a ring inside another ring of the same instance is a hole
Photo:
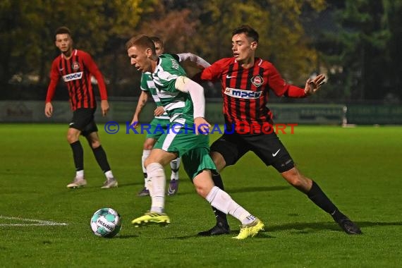
[[[54,31],[71,29],[76,47],[100,62],[111,81],[118,80],[118,57],[124,41],[135,30],[143,14],[153,11],[157,0],[5,0],[0,2],[1,82],[20,73],[47,80],[51,60],[59,54]],[[125,70],[125,68],[122,68]],[[3,85],[5,86],[5,85]]]

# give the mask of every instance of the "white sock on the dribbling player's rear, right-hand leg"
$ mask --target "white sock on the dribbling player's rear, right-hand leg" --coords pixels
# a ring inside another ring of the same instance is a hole
[[[217,186],[212,188],[205,199],[212,205],[212,207],[216,207],[225,214],[231,214],[233,217],[241,221],[242,224],[250,224],[255,219],[255,217],[247,210],[234,202],[228,193],[219,189]]]

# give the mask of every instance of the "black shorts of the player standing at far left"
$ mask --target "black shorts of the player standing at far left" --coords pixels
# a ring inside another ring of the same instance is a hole
[[[95,123],[95,109],[80,108],[73,111],[73,119],[69,128],[81,130],[81,135],[87,136],[92,132],[97,132],[97,124]]]

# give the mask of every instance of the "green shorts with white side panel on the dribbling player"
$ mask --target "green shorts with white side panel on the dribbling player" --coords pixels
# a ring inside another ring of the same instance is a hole
[[[177,128],[162,134],[154,148],[177,153],[191,180],[205,169],[217,172],[217,167],[209,157],[208,135],[195,135],[193,131],[186,133],[183,128]]]

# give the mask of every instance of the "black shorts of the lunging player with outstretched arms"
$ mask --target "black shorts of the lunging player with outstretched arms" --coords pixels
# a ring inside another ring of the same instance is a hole
[[[292,169],[295,164],[276,133],[271,134],[224,134],[211,145],[211,152],[219,152],[231,166],[246,152],[257,154],[264,164],[274,166],[280,173]]]

